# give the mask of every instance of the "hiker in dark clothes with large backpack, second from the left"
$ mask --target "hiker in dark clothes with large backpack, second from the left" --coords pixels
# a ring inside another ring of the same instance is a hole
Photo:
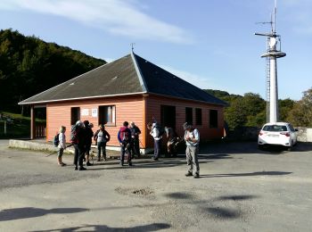
[[[83,159],[86,151],[86,137],[84,123],[81,120],[78,120],[76,122],[76,125],[72,126],[70,142],[72,145],[74,145],[75,148],[75,156],[74,156],[75,170],[86,170],[86,168],[83,165]]]

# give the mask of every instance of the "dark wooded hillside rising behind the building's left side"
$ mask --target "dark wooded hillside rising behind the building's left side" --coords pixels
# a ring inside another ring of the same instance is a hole
[[[18,102],[106,63],[101,59],[0,30],[0,111],[17,111]]]

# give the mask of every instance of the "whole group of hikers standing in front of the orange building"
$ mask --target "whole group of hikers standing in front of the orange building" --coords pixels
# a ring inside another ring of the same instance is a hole
[[[103,154],[103,160],[106,161],[106,144],[110,141],[111,136],[105,130],[103,124],[99,125],[96,132],[93,132],[94,125],[89,123],[88,120],[78,120],[70,131],[70,145],[74,146],[74,165],[75,170],[86,170],[83,162],[86,161],[86,166],[92,166],[90,162],[90,152],[93,140],[97,146],[97,161],[101,162],[101,154]],[[186,145],[186,163],[187,173],[186,177],[193,176],[199,178],[199,162],[198,152],[200,143],[200,133],[197,128],[193,128],[193,125],[185,122],[183,128],[185,130],[184,137],[178,137],[174,128],[165,127],[162,128],[160,124],[153,119],[153,122],[147,124],[147,128],[150,130],[150,135],[154,140],[154,154],[152,156],[153,161],[158,161],[160,157],[161,143],[165,136],[168,138],[167,152],[168,155],[177,157],[177,145],[182,141],[185,141]],[[61,166],[66,166],[66,163],[62,162],[62,154],[64,149],[68,147],[65,137],[66,128],[61,126],[59,133],[54,137],[54,145],[58,150],[57,162]],[[141,134],[140,128],[135,125],[135,122],[127,121],[123,122],[123,125],[119,128],[118,141],[120,145],[120,165],[124,166],[125,158],[127,158],[127,165],[132,166],[132,159],[137,156],[140,158],[140,140]]]

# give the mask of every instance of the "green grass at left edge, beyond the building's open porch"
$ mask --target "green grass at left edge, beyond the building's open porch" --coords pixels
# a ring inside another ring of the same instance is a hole
[[[12,121],[6,122],[6,135],[4,135],[4,120],[0,120],[0,138],[30,137],[30,117],[18,113],[2,112]],[[36,120],[36,123],[45,123],[45,120]]]

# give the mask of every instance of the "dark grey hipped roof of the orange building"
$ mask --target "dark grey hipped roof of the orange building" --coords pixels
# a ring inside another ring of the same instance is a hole
[[[133,53],[31,96],[19,104],[144,93],[225,105],[217,97]]]

